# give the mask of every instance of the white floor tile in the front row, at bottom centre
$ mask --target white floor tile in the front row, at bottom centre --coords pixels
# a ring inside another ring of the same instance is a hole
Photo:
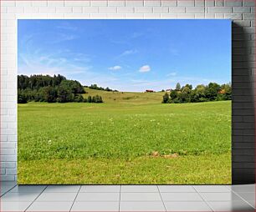
[[[120,202],[120,211],[166,211],[164,204],[158,202]]]

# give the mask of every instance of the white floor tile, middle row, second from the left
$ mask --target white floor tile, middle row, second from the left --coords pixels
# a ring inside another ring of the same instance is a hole
[[[13,193],[14,194],[14,193]],[[42,193],[39,195],[37,202],[72,202],[77,193]]]

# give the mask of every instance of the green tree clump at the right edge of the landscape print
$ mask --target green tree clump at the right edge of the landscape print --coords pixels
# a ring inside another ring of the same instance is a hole
[[[218,83],[199,84],[192,88],[191,84],[181,87],[177,83],[176,88],[170,93],[165,93],[162,97],[162,103],[199,103],[208,101],[231,100],[231,83],[219,85]]]

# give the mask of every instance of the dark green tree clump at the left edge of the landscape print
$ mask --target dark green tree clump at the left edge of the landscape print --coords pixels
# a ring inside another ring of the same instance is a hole
[[[58,74],[49,75],[18,75],[18,103],[48,102],[89,102],[103,103],[99,96],[84,98],[84,87],[76,80],[70,80]]]

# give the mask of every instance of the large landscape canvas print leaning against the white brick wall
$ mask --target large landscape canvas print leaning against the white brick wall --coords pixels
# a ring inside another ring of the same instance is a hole
[[[18,184],[230,184],[230,20],[18,20]]]

